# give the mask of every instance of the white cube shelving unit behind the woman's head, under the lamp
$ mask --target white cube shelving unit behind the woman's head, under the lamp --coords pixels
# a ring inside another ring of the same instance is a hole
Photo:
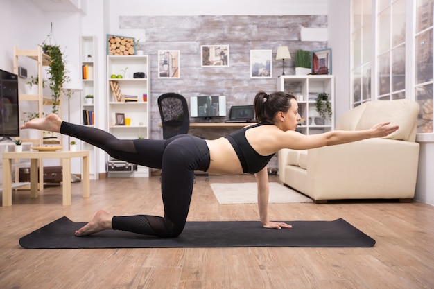
[[[286,91],[297,97],[300,116],[298,131],[302,134],[319,134],[334,130],[335,78],[329,75],[279,76],[277,91]],[[315,110],[315,100],[321,92],[329,94],[331,119],[322,119]]]

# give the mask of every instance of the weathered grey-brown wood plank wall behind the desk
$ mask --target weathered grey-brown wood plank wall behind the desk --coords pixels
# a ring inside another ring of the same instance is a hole
[[[327,15],[120,16],[125,35],[128,29],[144,29],[146,35],[140,42],[150,56],[151,137],[162,139],[157,98],[166,92],[180,91],[187,101],[190,96],[225,95],[229,112],[231,105],[252,104],[259,90],[275,91],[282,72],[282,62],[275,60],[278,46],[288,46],[293,58],[297,49],[327,48],[327,42],[300,40],[301,28],[313,27],[327,27]],[[229,67],[201,67],[200,46],[218,44],[229,45]],[[272,50],[272,78],[250,78],[251,49]],[[158,50],[180,51],[179,79],[158,78]],[[285,74],[294,71],[294,60],[285,60]],[[215,137],[227,133],[220,130]]]

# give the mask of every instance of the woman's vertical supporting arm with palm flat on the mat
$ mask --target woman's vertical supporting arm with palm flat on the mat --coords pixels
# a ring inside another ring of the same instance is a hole
[[[259,173],[255,173],[254,177],[257,180],[259,218],[263,227],[268,229],[291,228],[291,225],[284,222],[270,222],[268,220],[268,195],[270,187],[268,186],[267,167],[263,168]]]

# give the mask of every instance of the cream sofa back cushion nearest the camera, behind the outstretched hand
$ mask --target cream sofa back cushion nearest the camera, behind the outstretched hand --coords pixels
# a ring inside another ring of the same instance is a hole
[[[389,134],[386,139],[413,141],[413,130],[419,105],[408,99],[399,100],[373,100],[366,104],[356,130],[368,130],[377,123],[390,121],[392,125],[399,125],[399,130]]]

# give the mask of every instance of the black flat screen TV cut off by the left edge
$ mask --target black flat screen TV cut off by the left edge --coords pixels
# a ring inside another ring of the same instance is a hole
[[[19,137],[18,76],[0,69],[0,141],[11,137]]]

